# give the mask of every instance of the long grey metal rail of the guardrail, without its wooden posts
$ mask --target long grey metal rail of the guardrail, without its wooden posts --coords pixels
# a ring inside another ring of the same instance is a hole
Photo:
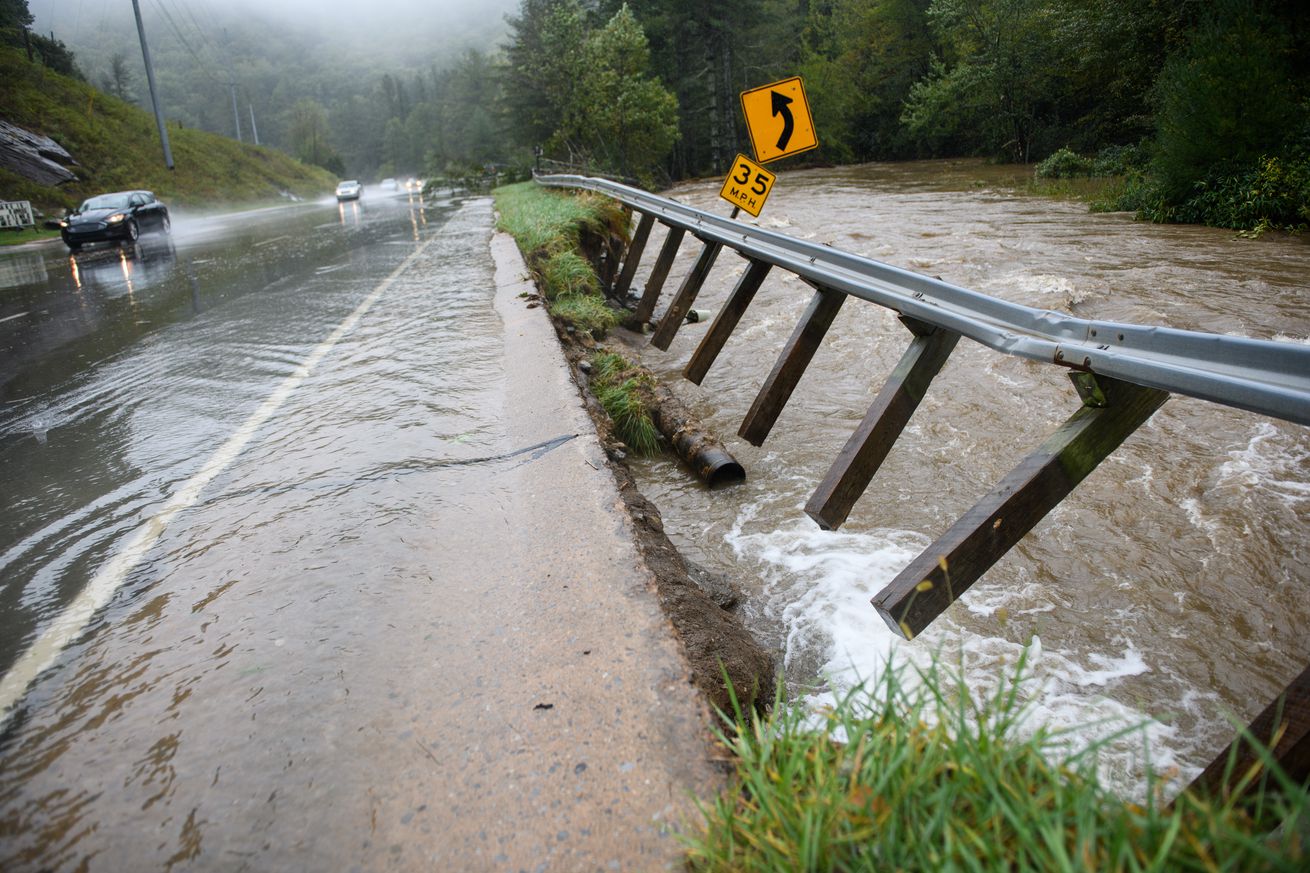
[[[538,176],[537,182],[605,194],[705,242],[952,330],[996,351],[1310,425],[1306,345],[1077,319],[998,300],[618,182],[586,176]]]

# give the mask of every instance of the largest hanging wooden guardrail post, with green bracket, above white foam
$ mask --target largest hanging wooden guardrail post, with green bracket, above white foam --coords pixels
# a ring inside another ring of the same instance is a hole
[[[874,596],[892,630],[921,633],[1169,400],[1090,372],[1070,378],[1083,408]]]

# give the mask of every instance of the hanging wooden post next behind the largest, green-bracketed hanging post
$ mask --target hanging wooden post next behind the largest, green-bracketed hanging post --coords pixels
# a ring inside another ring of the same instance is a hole
[[[960,340],[954,330],[905,316],[901,321],[914,333],[913,342],[806,503],[806,515],[825,531],[837,530],[850,515]]]

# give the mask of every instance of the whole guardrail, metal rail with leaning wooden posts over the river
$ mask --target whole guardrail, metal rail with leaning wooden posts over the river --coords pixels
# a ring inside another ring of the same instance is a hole
[[[642,321],[654,313],[685,236],[701,241],[696,263],[651,340],[659,349],[669,347],[719,252],[730,248],[747,258],[748,269],[683,371],[697,384],[772,269],[787,270],[815,288],[738,431],[755,446],[768,436],[848,298],[900,316],[912,334],[909,347],[806,505],[806,513],[827,530],[846,519],[962,337],[1069,371],[1082,406],[874,596],[883,620],[907,638],[973,585],[1171,393],[1310,425],[1306,345],[1077,319],[747,225],[618,182],[562,174],[538,176],[537,182],[596,191],[641,214],[613,282],[612,292],[620,298],[629,291],[654,223],[668,227],[637,305]],[[1296,767],[1303,777],[1310,760],[1310,669],[1289,686],[1289,695],[1294,697],[1286,709],[1292,722],[1284,718],[1273,751],[1281,760],[1300,762]],[[1265,739],[1269,733],[1256,735]]]

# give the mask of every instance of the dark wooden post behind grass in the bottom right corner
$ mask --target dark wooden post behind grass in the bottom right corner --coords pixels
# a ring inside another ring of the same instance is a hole
[[[1188,789],[1227,798],[1238,788],[1255,788],[1260,781],[1258,779],[1241,784],[1254,767],[1260,766],[1260,758],[1247,738],[1263,743],[1293,784],[1305,785],[1310,780],[1310,667],[1302,670],[1286,691],[1255,717],[1246,735],[1220,752]],[[1271,780],[1269,788],[1277,789],[1279,785]]]

